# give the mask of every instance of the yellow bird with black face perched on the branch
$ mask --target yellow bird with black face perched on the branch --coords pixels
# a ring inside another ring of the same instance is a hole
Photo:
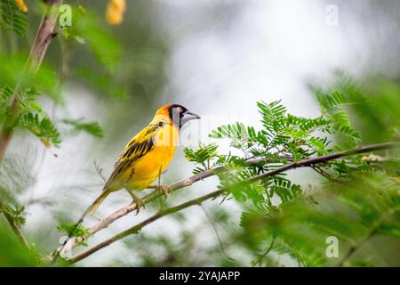
[[[93,214],[111,192],[121,189],[131,194],[139,212],[144,203],[133,191],[147,188],[164,172],[179,142],[180,127],[197,118],[200,117],[179,104],[158,109],[150,124],[128,142],[100,197],[87,212]],[[167,189],[161,190],[166,194]]]

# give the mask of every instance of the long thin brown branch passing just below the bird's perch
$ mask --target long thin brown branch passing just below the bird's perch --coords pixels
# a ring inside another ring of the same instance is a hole
[[[273,175],[277,175],[279,173],[285,172],[290,169],[295,169],[297,167],[310,167],[310,166],[313,166],[313,165],[316,165],[319,163],[328,162],[332,159],[340,159],[343,157],[347,157],[347,156],[359,154],[359,153],[364,153],[364,152],[368,152],[368,151],[388,150],[388,149],[396,148],[399,146],[400,146],[399,142],[385,142],[385,143],[373,144],[373,145],[369,145],[369,146],[357,147],[356,149],[352,149],[352,150],[348,150],[348,151],[335,152],[335,153],[332,153],[332,154],[329,154],[329,155],[326,155],[323,157],[318,157],[318,158],[313,158],[313,159],[303,159],[303,160],[300,160],[299,162],[290,163],[284,167],[277,167],[276,169],[268,171],[262,175],[253,176],[252,178],[245,179],[244,181],[241,181],[240,183],[235,183],[233,185],[230,185],[228,187],[220,189],[219,191],[212,191],[211,193],[206,194],[197,199],[192,199],[192,200],[189,200],[188,202],[182,203],[178,206],[159,211],[156,215],[149,217],[148,219],[144,220],[140,224],[132,226],[130,229],[128,229],[124,232],[120,232],[120,233],[116,234],[115,236],[109,238],[108,240],[104,240],[104,241],[100,242],[99,244],[93,246],[92,248],[86,249],[86,250],[84,250],[84,252],[71,257],[69,259],[69,261],[71,263],[76,263],[77,261],[80,261],[80,260],[84,259],[85,257],[92,255],[94,252],[100,250],[101,248],[107,247],[108,245],[115,242],[116,240],[121,240],[128,235],[138,233],[144,226],[146,226],[147,224],[153,223],[154,221],[161,218],[162,216],[167,216],[169,214],[175,213],[177,211],[180,211],[181,209],[188,208],[193,205],[199,205],[207,199],[212,199],[212,198],[220,196],[222,193],[229,191],[229,189],[231,189],[232,187],[240,186],[240,185],[243,185],[246,183],[254,183],[260,179],[264,179],[264,178],[267,178],[267,177],[270,177]],[[130,206],[128,206],[128,207],[130,207]],[[122,208],[121,210],[126,210],[126,208]],[[119,210],[119,211],[121,211],[121,210]]]

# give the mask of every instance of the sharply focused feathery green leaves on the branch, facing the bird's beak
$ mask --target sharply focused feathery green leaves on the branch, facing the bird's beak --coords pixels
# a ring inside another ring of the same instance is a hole
[[[219,154],[216,144],[200,144],[196,151],[186,149],[185,154],[190,161],[200,165],[195,168],[195,173],[229,163],[229,167],[218,173],[220,187],[230,189],[236,199],[251,199],[256,206],[266,202],[268,206],[273,206],[274,201],[276,204],[276,201],[283,203],[294,199],[302,193],[301,187],[285,178],[283,174],[257,183],[241,184],[238,189],[229,186],[292,161],[329,154],[340,148],[338,145],[332,145],[332,135],[345,134],[349,141],[359,142],[359,134],[351,127],[348,119],[344,119],[348,118],[346,111],[340,109],[341,104],[346,104],[346,98],[339,93],[331,94],[330,98],[332,99],[326,99],[327,102],[332,101],[330,104],[322,103],[321,115],[317,118],[293,116],[280,101],[258,102],[262,129],[256,130],[253,126],[244,126],[236,122],[219,126],[212,131],[211,138],[230,140],[230,146],[241,151],[243,156]],[[332,116],[333,111],[335,114],[346,115],[341,119],[336,118]],[[260,163],[247,165],[246,159],[254,157],[261,158]],[[364,170],[367,170],[362,160],[354,161],[356,163],[352,165],[353,168],[364,167]],[[346,178],[348,170],[349,165],[344,159],[327,162],[316,169],[319,173],[330,173],[335,179]]]

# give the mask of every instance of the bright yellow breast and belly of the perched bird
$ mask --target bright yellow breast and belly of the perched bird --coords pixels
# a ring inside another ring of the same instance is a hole
[[[179,130],[174,125],[164,125],[153,138],[154,147],[132,165],[126,186],[143,190],[156,181],[172,160],[179,142]]]

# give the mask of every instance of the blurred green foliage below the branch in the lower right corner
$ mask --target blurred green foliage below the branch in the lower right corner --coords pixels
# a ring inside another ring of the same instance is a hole
[[[279,211],[244,212],[241,225],[252,235],[246,236],[246,242],[257,244],[275,237],[272,252],[288,254],[300,260],[300,265],[338,265],[340,258],[325,254],[327,237],[338,238],[339,256],[346,256],[349,248],[358,249],[375,235],[400,238],[399,197],[399,184],[387,175],[358,174],[345,191],[330,185],[314,194],[313,199],[324,207],[310,203],[307,195],[299,196],[283,203]]]

